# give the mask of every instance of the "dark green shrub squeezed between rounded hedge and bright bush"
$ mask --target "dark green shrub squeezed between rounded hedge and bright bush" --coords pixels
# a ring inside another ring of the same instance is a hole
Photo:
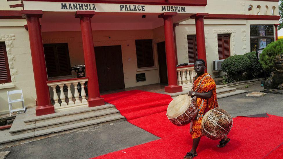
[[[263,75],[263,68],[260,62],[257,60],[255,52],[248,52],[244,54],[251,61],[251,67],[247,70],[247,78],[254,79]]]

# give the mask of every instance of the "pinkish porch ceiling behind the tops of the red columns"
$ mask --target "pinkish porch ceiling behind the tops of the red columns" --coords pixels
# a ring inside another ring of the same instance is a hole
[[[97,12],[92,18],[92,30],[151,30],[162,25],[162,13],[102,13]],[[146,18],[142,18],[146,15]],[[174,23],[189,19],[193,14],[179,14],[173,17]],[[80,31],[79,19],[75,12],[43,12],[42,32]]]

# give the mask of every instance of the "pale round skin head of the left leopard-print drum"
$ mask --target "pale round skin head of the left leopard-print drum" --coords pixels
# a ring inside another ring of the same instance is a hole
[[[191,98],[187,95],[180,95],[174,98],[168,105],[168,118],[177,118],[182,115],[190,106]]]

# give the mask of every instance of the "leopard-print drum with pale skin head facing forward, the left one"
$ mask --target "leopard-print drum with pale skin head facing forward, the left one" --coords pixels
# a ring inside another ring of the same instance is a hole
[[[187,125],[197,116],[197,103],[188,95],[177,96],[169,103],[166,115],[177,126]]]

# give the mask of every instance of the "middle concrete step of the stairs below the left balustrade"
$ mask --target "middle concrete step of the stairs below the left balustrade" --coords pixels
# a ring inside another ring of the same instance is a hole
[[[29,125],[25,125],[23,123],[23,120],[17,118],[13,123],[12,127],[10,128],[9,132],[11,136],[14,136],[32,131],[49,129],[52,127],[59,127],[63,125],[69,125],[69,124],[84,122],[93,119],[101,119],[115,115],[120,115],[120,112],[114,107],[114,109],[104,110],[99,112],[90,111],[88,113],[76,114],[75,116],[61,116],[60,118],[57,117],[53,119],[49,118],[50,120],[46,120],[39,123],[37,123],[36,121],[36,123]]]

